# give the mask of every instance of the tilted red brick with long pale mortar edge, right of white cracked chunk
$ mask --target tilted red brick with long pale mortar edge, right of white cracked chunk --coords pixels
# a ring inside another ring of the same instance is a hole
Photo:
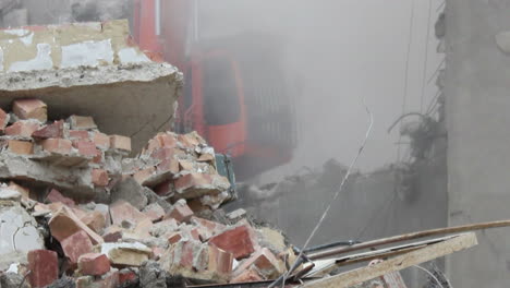
[[[68,207],[61,207],[48,223],[51,236],[58,241],[62,241],[71,235],[84,230],[93,244],[102,243],[102,238],[83,224],[78,217]]]

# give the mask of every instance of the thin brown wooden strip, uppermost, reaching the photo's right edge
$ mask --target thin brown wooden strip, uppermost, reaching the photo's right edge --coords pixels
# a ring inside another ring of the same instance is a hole
[[[367,242],[363,242],[360,244],[351,245],[351,247],[342,247],[342,248],[335,248],[317,253],[307,254],[308,259],[317,260],[317,259],[325,259],[331,257],[339,254],[344,254],[352,251],[359,251],[368,248],[376,248],[380,245],[402,242],[414,240],[418,238],[425,238],[430,236],[437,235],[447,235],[447,233],[459,233],[459,232],[466,232],[466,231],[474,231],[474,230],[482,230],[482,229],[489,229],[489,228],[500,228],[500,227],[509,227],[510,220],[499,220],[499,221],[488,221],[488,223],[477,223],[477,224],[470,224],[470,225],[462,225],[456,227],[447,227],[447,228],[438,228],[438,229],[430,229],[424,231],[417,231],[412,233],[405,233],[400,236],[393,236],[384,239],[372,240]]]

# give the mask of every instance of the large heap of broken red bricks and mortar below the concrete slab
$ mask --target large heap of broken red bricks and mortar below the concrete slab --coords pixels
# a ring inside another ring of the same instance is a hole
[[[47,119],[39,99],[0,110],[1,287],[179,287],[275,279],[293,255],[243,211],[196,133],[131,139],[92,117]]]

